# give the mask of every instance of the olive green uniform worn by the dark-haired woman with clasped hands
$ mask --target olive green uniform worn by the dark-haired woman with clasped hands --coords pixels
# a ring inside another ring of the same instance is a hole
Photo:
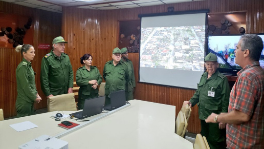
[[[76,72],[76,84],[80,86],[77,104],[79,109],[83,109],[86,99],[98,97],[98,87],[93,89],[92,85],[88,83],[90,80],[96,80],[98,85],[102,83],[103,79],[97,67],[90,66],[90,71],[85,66],[78,68]]]

